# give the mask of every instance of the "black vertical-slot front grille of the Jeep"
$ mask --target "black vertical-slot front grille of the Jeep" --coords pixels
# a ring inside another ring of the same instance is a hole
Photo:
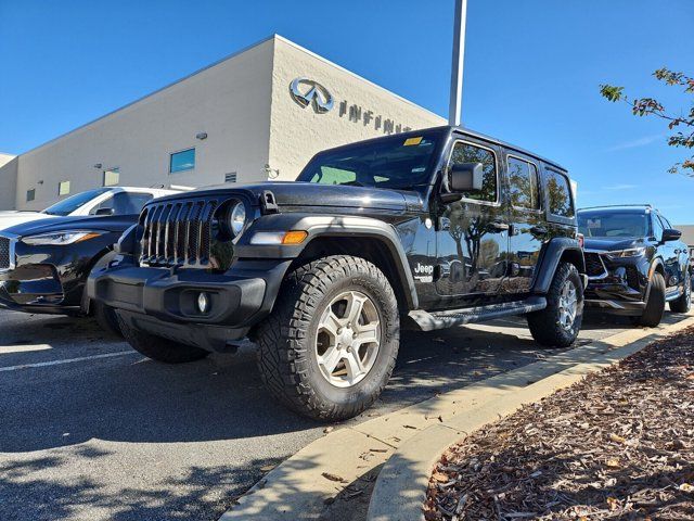
[[[143,227],[140,263],[208,266],[217,204],[215,200],[192,200],[147,205],[140,216]]]

